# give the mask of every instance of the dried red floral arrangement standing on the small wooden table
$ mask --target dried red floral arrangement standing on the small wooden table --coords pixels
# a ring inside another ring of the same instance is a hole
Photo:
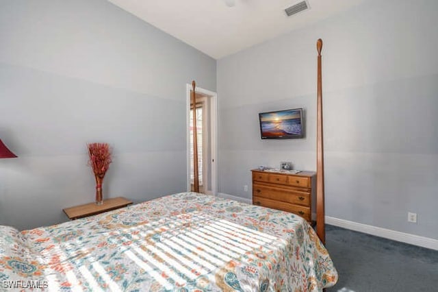
[[[103,204],[102,184],[105,173],[110,168],[111,149],[107,143],[90,143],[88,144],[88,165],[93,170],[96,178],[96,204]]]

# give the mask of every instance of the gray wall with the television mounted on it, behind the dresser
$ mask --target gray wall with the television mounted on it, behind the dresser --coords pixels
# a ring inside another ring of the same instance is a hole
[[[435,0],[365,1],[218,60],[219,191],[250,198],[258,165],[315,170],[322,38],[326,215],[438,239],[437,11]],[[258,112],[296,107],[306,138],[261,141]]]

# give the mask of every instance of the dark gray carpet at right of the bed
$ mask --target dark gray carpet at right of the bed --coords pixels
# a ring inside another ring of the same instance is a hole
[[[326,225],[339,280],[330,291],[438,291],[438,252]]]

